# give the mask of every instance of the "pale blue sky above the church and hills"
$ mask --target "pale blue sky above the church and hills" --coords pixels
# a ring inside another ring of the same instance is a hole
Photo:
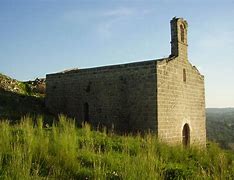
[[[167,57],[174,16],[189,23],[206,106],[234,107],[233,0],[0,0],[0,72],[29,80]]]

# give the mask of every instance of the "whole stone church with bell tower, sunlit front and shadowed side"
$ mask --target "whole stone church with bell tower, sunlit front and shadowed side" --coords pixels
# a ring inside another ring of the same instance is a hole
[[[204,76],[188,61],[187,22],[171,20],[168,58],[46,76],[46,106],[92,126],[205,146]]]

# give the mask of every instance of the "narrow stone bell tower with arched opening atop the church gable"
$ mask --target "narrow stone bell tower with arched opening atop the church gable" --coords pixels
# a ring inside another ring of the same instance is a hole
[[[188,23],[183,18],[174,17],[171,20],[171,56],[187,60],[187,28]]]

